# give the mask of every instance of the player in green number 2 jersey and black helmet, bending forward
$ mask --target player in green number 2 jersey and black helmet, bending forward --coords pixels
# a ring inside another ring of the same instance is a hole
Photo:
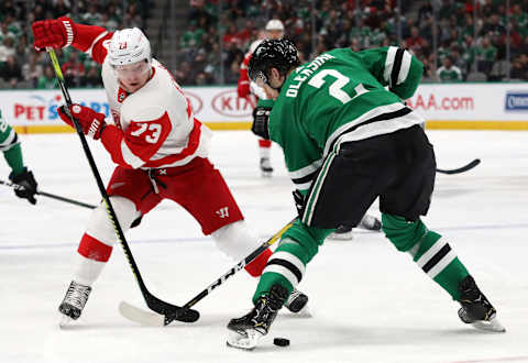
[[[275,100],[260,103],[253,131],[283,147],[299,218],[266,264],[255,307],[229,322],[228,344],[255,348],[326,237],[356,226],[377,197],[386,238],[461,304],[462,321],[505,331],[447,240],[420,219],[436,158],[420,128],[425,120],[403,100],[416,91],[421,63],[389,46],[338,48],[300,65],[295,45],[277,40],[255,50],[249,72]]]

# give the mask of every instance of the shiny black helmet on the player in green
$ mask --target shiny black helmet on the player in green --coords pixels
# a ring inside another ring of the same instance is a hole
[[[280,38],[262,42],[251,55],[248,68],[251,80],[261,78],[267,82],[271,68],[277,68],[280,75],[286,76],[289,69],[299,65],[295,44],[287,38]]]

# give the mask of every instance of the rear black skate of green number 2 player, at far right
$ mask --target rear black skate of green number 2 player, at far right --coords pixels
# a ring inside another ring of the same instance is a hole
[[[459,283],[461,292],[459,317],[465,323],[471,323],[476,329],[505,332],[506,329],[496,319],[497,311],[490,300],[481,293],[472,276]]]

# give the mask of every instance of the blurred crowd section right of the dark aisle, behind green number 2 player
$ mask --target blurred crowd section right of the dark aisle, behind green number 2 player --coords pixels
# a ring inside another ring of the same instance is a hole
[[[309,0],[226,0],[219,8],[217,1],[191,0],[188,26],[179,44],[177,79],[184,85],[215,84],[223,69],[226,82],[235,82],[244,53],[270,19],[284,23],[285,36],[296,43],[302,61],[334,47],[361,51],[399,45],[424,62],[425,81],[499,81],[507,75],[508,14],[503,0],[477,0],[475,14],[473,0],[400,1],[400,12],[396,0],[314,3],[315,9]],[[514,80],[528,79],[526,9],[528,0],[512,1]]]

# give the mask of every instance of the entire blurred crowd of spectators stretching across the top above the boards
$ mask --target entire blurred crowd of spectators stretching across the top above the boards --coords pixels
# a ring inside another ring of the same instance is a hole
[[[144,30],[153,3],[2,0],[0,88],[57,86],[45,54],[31,46],[34,20],[67,14],[111,31]],[[298,46],[301,61],[334,47],[399,45],[424,62],[425,81],[501,81],[508,66],[510,79],[528,80],[528,0],[512,1],[509,14],[503,0],[476,0],[476,9],[474,0],[400,3],[402,11],[396,0],[190,0],[172,70],[182,85],[235,84],[250,44],[262,37],[268,20],[276,19]],[[85,54],[69,47],[59,56],[72,87],[101,86],[99,65]]]

